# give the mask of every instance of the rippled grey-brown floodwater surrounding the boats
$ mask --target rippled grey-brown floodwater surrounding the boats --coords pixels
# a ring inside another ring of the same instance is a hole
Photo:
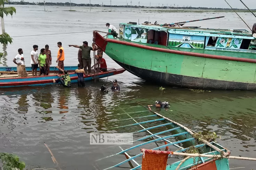
[[[109,22],[118,28],[121,22],[170,23],[183,20],[226,16],[222,19],[187,23],[186,26],[204,28],[248,29],[234,13],[160,13],[138,11],[126,8],[46,7],[15,6],[17,14],[5,17],[6,32],[13,37],[13,43],[3,50],[7,55],[1,58],[1,66],[14,66],[13,58],[17,49],[22,48],[25,64],[30,65],[30,51],[37,44],[43,48],[50,46],[53,66],[57,54],[57,42],[65,49],[65,65],[77,65],[78,49],[68,44],[92,43],[92,31],[107,31]],[[250,13],[241,13],[252,26],[255,18]],[[73,33],[84,32],[84,33]],[[59,34],[73,33],[73,34]],[[52,34],[52,35],[42,35]],[[31,36],[37,35],[37,36]],[[108,67],[120,68],[104,54]],[[102,84],[111,86],[111,80],[119,80],[120,93],[102,94]],[[160,113],[184,124],[195,131],[216,132],[221,136],[217,142],[227,147],[234,156],[256,158],[256,92],[254,91],[204,91],[196,92],[183,88],[159,86],[128,73],[88,82],[86,88],[61,86],[9,88],[0,91],[0,152],[15,153],[27,163],[27,169],[55,168],[104,169],[125,160],[124,155],[113,159],[102,159],[120,150],[118,146],[90,145],[90,133],[106,132],[111,127],[132,124],[126,112],[146,110],[139,104],[148,105],[156,100],[168,101],[171,108]],[[132,107],[132,108],[129,108]],[[126,108],[126,109],[121,109]],[[143,114],[142,114],[143,113]],[[132,117],[145,116],[149,112],[131,113]],[[116,121],[113,125],[113,121]],[[142,120],[141,120],[142,121]],[[148,124],[150,126],[150,124]],[[112,132],[131,132],[139,126],[115,129]],[[51,148],[59,165],[53,163],[44,142]],[[138,148],[138,153],[139,153]],[[253,161],[230,160],[230,168],[255,169]],[[126,166],[127,167],[127,166]],[[122,168],[119,168],[122,169]]]

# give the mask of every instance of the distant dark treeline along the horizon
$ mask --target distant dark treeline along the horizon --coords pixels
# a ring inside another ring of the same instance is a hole
[[[5,2],[6,4],[6,2]],[[44,2],[25,2],[25,1],[20,1],[20,2],[14,2],[11,1],[9,2],[9,4],[11,5],[44,5]],[[51,6],[70,6],[70,2],[45,2],[45,5],[51,5]],[[71,3],[71,6],[79,6],[79,7],[90,7],[89,3]],[[110,5],[99,5],[99,4],[91,4],[91,7],[110,7]],[[131,8],[130,5],[112,5],[111,7],[116,7],[116,8]],[[139,8],[139,6],[135,5],[132,6],[132,8]],[[230,8],[207,8],[207,7],[159,7],[159,6],[155,6],[155,7],[149,7],[149,6],[140,6],[140,8],[160,8],[160,9],[210,9],[210,10],[230,10]],[[234,8],[236,9],[236,8]],[[239,10],[239,9],[236,9]]]

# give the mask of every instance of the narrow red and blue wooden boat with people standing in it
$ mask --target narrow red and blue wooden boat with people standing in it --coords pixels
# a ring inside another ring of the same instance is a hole
[[[77,82],[77,74],[75,70],[77,66],[65,66],[64,70],[67,70],[71,83]],[[45,86],[53,84],[53,79],[59,78],[56,74],[59,73],[59,69],[56,67],[50,67],[49,75],[48,76],[36,76],[32,77],[30,74],[31,67],[26,67],[26,71],[28,72],[28,77],[19,77],[17,75],[17,68],[16,67],[0,67],[0,88],[2,87],[19,87],[19,86]],[[103,73],[96,73],[95,75],[87,75],[84,76],[85,81],[92,80],[95,76],[98,78],[104,78],[108,76],[113,76],[117,74],[121,74],[125,71],[123,68],[115,69],[109,68],[108,71]],[[39,69],[38,69],[39,73]]]

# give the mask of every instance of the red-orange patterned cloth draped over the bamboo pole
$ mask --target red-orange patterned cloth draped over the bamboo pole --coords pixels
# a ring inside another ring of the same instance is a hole
[[[141,169],[143,170],[165,170],[169,154],[171,151],[158,151],[141,149],[143,153]]]

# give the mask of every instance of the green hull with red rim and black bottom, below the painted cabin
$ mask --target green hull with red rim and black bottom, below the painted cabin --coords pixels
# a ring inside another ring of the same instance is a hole
[[[174,50],[104,39],[100,35],[96,36],[96,44],[127,71],[153,83],[197,89],[256,90],[256,59],[252,56],[255,54],[241,53],[239,57],[234,52],[218,51],[227,54],[218,56],[212,50]]]

